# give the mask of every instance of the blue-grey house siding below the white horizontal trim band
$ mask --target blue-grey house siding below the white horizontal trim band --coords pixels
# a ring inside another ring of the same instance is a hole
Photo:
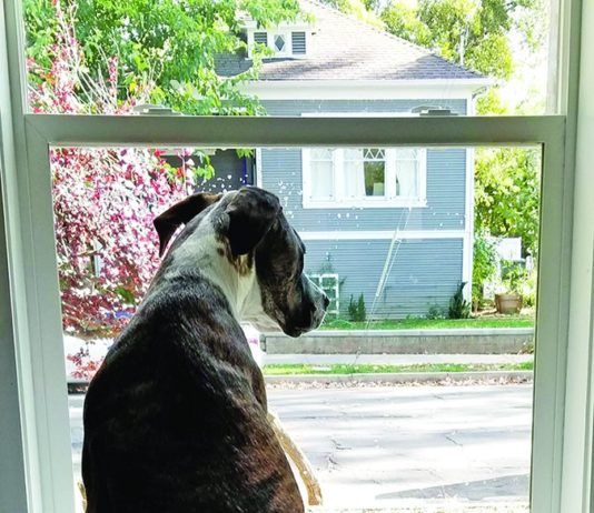
[[[349,299],[364,294],[368,319],[426,315],[432,306],[445,313],[461,281],[462,239],[403,240],[394,245],[387,279],[376,299],[389,255],[389,240],[307,241],[307,273],[339,276],[340,316]]]

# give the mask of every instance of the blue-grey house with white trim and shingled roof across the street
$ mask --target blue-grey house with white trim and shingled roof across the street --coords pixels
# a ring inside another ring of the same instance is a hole
[[[308,22],[263,29],[248,47],[275,56],[246,86],[269,114],[419,115],[473,112],[489,80],[323,4],[301,0]],[[234,76],[250,56],[227,56]],[[224,164],[221,159],[227,159]],[[307,245],[306,270],[346,315],[364,294],[373,318],[425,315],[471,282],[473,151],[452,148],[257,149],[251,161],[214,157],[219,183],[277,193]],[[219,162],[220,161],[220,162]],[[466,286],[469,294],[469,286]]]

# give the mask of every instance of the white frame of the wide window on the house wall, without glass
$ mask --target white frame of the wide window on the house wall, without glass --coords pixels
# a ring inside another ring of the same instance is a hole
[[[366,147],[367,148],[367,147]],[[333,171],[334,171],[334,194],[331,199],[311,198],[311,149],[301,149],[301,173],[303,173],[303,207],[304,209],[388,209],[388,208],[424,208],[427,207],[427,150],[415,148],[419,152],[417,170],[416,198],[396,195],[396,177],[398,148],[383,148],[385,157],[385,195],[383,197],[345,197],[345,152],[344,149],[333,149]]]

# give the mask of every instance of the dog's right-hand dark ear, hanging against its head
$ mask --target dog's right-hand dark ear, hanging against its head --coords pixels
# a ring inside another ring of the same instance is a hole
[[[249,253],[268,233],[280,212],[278,198],[255,187],[244,187],[227,205],[227,237],[231,254]]]

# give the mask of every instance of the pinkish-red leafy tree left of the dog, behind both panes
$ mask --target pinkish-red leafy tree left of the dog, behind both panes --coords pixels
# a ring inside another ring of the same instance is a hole
[[[58,33],[51,68],[32,59],[30,103],[34,112],[130,114],[146,102],[149,86],[123,103],[117,98],[119,63],[108,58],[108,77],[97,79],[57,6]],[[113,335],[133,313],[159,265],[152,219],[194,190],[191,175],[167,171],[161,150],[53,148],[56,250],[63,328],[69,333]],[[81,373],[95,363],[75,358]]]

